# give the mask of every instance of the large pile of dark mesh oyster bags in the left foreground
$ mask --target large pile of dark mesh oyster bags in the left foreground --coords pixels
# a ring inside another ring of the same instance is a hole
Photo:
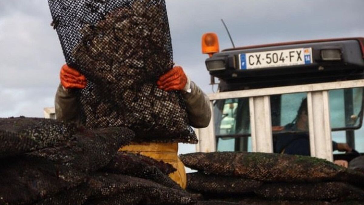
[[[133,139],[122,127],[0,119],[0,204],[195,204],[172,166],[118,152]]]

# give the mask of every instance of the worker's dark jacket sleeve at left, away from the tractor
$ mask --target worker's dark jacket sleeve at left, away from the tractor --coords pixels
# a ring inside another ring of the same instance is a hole
[[[80,124],[79,107],[75,90],[58,86],[55,97],[56,119]]]

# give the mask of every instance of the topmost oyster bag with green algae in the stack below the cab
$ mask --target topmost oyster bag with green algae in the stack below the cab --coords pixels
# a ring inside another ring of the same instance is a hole
[[[211,174],[236,176],[260,181],[319,182],[350,181],[363,186],[364,177],[323,159],[309,156],[211,152],[181,155],[185,166]]]

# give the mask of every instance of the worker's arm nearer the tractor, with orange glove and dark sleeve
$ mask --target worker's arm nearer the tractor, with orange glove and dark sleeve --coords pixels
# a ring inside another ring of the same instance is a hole
[[[157,85],[166,91],[182,91],[192,127],[203,128],[209,125],[211,119],[210,100],[194,82],[189,80],[181,66],[175,66],[161,76]]]

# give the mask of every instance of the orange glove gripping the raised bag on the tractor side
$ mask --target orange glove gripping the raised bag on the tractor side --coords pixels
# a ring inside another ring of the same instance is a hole
[[[187,76],[181,66],[173,67],[157,81],[158,88],[166,91],[183,90],[186,83]]]

